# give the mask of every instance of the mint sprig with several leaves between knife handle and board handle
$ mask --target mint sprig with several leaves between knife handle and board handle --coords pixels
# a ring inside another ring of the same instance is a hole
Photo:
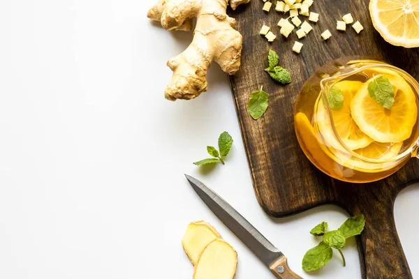
[[[339,229],[330,232],[325,232],[328,228],[328,223],[323,222],[316,225],[316,227],[311,229],[310,233],[316,236],[323,235],[323,241],[305,253],[302,259],[302,269],[304,271],[315,271],[328,264],[333,257],[332,248],[339,251],[342,262],[346,266],[346,260],[341,249],[345,247],[346,239],[361,234],[364,227],[365,217],[363,215],[348,218]]]

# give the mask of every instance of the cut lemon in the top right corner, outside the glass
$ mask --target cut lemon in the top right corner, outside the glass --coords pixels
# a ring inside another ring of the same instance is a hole
[[[372,0],[369,13],[384,40],[402,47],[419,47],[419,0]]]

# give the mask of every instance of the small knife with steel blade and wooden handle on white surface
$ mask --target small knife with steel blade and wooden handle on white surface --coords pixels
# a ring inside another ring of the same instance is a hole
[[[228,202],[205,186],[198,179],[185,174],[193,190],[203,199],[203,202],[214,214],[233,232],[258,258],[269,267],[270,271],[282,279],[297,279],[297,276],[288,267],[284,254],[272,245],[265,236],[251,225],[243,216],[233,209]]]

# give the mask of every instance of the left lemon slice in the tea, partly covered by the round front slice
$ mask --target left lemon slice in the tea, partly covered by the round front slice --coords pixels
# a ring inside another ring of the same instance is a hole
[[[344,106],[340,110],[331,110],[337,134],[351,150],[368,146],[373,140],[358,128],[351,116],[351,100],[362,87],[362,82],[342,81],[335,84],[335,86],[341,89],[342,95],[344,96]],[[335,149],[344,150],[335,138],[328,110],[326,110],[321,100],[318,102],[316,121],[325,143]]]

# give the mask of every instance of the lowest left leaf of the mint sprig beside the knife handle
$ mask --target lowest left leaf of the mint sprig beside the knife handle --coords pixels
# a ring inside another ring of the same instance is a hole
[[[333,250],[323,241],[318,246],[308,250],[302,259],[304,271],[315,271],[330,262],[333,257]]]

